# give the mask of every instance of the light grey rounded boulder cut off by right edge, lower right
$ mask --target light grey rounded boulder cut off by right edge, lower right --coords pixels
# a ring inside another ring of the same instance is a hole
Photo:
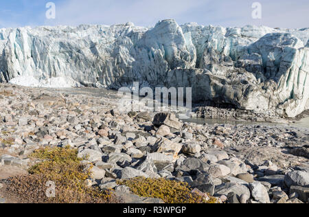
[[[286,183],[288,187],[292,185],[309,187],[309,173],[303,171],[288,172],[284,177],[284,183]]]

